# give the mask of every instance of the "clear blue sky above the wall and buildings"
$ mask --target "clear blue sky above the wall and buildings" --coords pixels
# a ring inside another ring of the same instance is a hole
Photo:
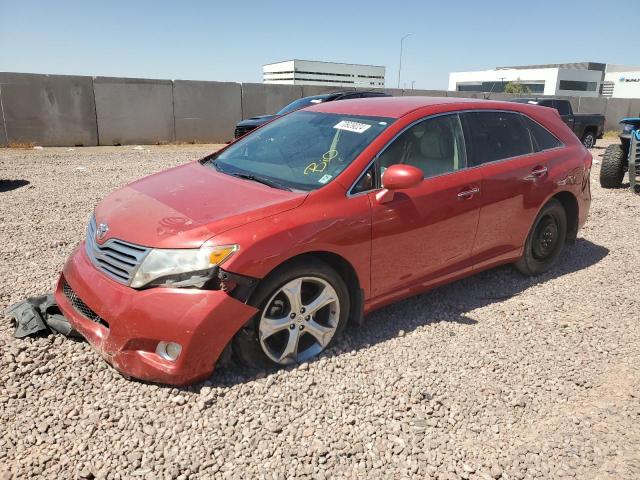
[[[446,88],[450,71],[639,65],[637,1],[0,0],[0,71],[261,82],[301,58],[384,65],[395,87],[413,33],[403,83]]]

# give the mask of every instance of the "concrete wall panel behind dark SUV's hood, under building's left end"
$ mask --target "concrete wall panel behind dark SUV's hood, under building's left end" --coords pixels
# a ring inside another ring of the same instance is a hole
[[[302,98],[299,85],[242,84],[242,118],[275,113],[285,105]]]

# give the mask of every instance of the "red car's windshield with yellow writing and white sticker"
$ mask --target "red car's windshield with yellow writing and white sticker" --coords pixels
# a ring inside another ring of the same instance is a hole
[[[393,121],[295,112],[214,154],[208,163],[223,173],[272,186],[315,190],[337,177]]]

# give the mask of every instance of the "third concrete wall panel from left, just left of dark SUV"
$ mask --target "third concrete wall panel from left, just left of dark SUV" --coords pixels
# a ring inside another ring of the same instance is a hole
[[[176,80],[173,114],[176,141],[226,142],[242,120],[242,87],[231,82]]]

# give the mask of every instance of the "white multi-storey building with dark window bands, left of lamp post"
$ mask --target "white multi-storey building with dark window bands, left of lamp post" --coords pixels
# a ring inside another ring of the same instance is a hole
[[[263,83],[384,88],[385,67],[352,63],[287,60],[262,67]]]

